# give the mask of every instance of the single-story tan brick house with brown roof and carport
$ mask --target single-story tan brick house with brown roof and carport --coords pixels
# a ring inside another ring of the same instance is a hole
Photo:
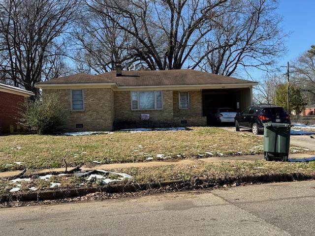
[[[118,67],[119,68],[119,67]],[[207,125],[213,107],[242,110],[256,82],[191,69],[75,74],[36,84],[58,94],[67,131]]]

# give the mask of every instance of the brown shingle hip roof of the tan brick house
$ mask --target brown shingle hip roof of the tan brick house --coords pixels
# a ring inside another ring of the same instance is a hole
[[[181,86],[181,85],[215,85],[254,83],[222,75],[206,73],[191,69],[182,70],[145,70],[123,71],[116,77],[116,71],[101,75],[76,74],[53,79],[41,84],[77,84],[77,83],[116,83],[120,86]]]

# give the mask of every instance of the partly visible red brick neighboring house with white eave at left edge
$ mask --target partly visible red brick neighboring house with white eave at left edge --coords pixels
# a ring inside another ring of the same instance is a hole
[[[0,84],[0,134],[22,131],[18,119],[32,95],[30,91]]]

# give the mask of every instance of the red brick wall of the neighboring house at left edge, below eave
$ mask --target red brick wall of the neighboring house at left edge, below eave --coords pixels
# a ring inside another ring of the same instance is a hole
[[[10,125],[14,130],[20,128],[17,125],[20,118],[19,113],[23,112],[25,98],[22,95],[0,91],[0,133],[9,133]]]

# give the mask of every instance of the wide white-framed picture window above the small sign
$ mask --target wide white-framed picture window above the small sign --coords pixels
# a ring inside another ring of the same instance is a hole
[[[132,110],[161,110],[162,91],[131,91]]]

